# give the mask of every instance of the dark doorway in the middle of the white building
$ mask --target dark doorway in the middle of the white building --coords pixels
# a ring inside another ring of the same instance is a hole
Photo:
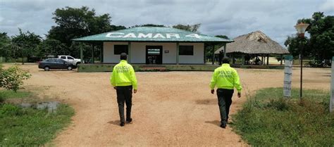
[[[162,64],[162,46],[146,46],[146,64]]]

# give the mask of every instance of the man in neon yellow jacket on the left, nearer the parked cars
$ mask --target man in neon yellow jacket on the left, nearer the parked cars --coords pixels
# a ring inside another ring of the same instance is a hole
[[[118,112],[120,114],[120,126],[125,125],[124,119],[124,103],[126,104],[126,122],[132,122],[131,106],[132,106],[132,89],[133,93],[137,93],[137,79],[135,70],[126,61],[126,53],[120,53],[120,63],[113,67],[110,77],[113,89],[116,89]]]

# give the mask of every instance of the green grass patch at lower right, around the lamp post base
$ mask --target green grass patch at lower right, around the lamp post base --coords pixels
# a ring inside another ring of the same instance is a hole
[[[333,146],[334,113],[329,113],[329,92],[283,88],[261,89],[249,98],[232,127],[252,146]]]

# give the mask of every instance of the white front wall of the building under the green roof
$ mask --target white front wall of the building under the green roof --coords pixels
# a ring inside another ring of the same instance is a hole
[[[126,45],[128,42],[104,42],[104,63],[118,63],[119,55],[113,54],[113,45]],[[204,44],[203,43],[180,43],[180,45],[193,45],[193,56],[179,56],[181,64],[203,64],[204,62]],[[132,42],[131,43],[131,63],[146,63],[146,46],[163,47],[163,64],[176,63],[176,43],[154,43],[154,42]],[[168,51],[168,53],[165,53]]]

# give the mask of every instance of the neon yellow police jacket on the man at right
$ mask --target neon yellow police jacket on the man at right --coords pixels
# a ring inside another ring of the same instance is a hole
[[[214,89],[215,87],[218,87],[218,89],[234,89],[235,87],[240,92],[242,87],[237,71],[231,68],[229,64],[223,64],[216,68],[210,82],[210,88]]]

